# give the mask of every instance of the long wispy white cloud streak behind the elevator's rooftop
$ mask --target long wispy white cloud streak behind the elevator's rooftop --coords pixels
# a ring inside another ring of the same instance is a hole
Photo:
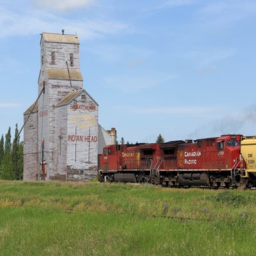
[[[19,22],[17,22],[19,20]],[[92,39],[109,34],[120,33],[127,25],[112,20],[65,19],[50,12],[26,10],[24,13],[12,12],[0,7],[0,38],[17,35],[38,35],[43,31],[74,34],[79,39]]]

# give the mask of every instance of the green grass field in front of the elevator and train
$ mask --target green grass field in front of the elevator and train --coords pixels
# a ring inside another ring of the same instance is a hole
[[[256,191],[0,181],[0,255],[256,255]]]

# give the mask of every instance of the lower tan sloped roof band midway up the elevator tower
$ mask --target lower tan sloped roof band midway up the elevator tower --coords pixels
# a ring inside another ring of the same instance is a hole
[[[69,80],[70,76],[71,80],[83,81],[80,69],[71,68],[69,74],[67,68],[45,68],[45,70],[49,79]]]

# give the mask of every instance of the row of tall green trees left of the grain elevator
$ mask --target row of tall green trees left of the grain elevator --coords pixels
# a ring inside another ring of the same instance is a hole
[[[18,136],[18,125],[15,125],[15,135],[12,140],[11,127],[0,140],[0,179],[23,179],[23,141]]]

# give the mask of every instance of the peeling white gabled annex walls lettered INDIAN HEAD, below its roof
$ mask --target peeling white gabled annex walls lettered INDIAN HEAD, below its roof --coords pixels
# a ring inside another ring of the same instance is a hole
[[[66,172],[68,180],[88,180],[96,177],[97,104],[83,91],[69,104],[56,107],[56,116],[56,131],[62,136],[61,152],[58,152],[58,173]],[[59,136],[56,136],[56,140],[60,150]]]

